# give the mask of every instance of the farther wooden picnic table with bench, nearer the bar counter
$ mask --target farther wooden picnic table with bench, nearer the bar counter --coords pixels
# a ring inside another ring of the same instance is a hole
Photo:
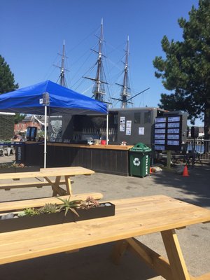
[[[0,180],[13,179],[18,181],[13,181],[11,183],[0,183],[0,189],[10,190],[11,188],[41,188],[43,186],[51,186],[53,190],[52,196],[71,195],[71,176],[91,174],[94,174],[94,171],[84,167],[53,167],[42,168],[38,172],[2,173],[0,174]],[[64,176],[63,181],[62,176]],[[55,181],[52,181],[50,177],[55,177]],[[34,178],[36,181],[19,181],[20,179],[30,178]],[[61,188],[60,185],[65,185],[66,190]]]

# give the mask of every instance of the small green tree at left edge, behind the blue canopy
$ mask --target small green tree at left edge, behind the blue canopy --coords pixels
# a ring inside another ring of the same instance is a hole
[[[18,83],[15,84],[14,74],[10,71],[10,66],[0,55],[0,94],[11,92],[17,88]]]

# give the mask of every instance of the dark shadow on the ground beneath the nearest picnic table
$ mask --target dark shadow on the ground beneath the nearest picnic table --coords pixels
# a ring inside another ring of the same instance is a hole
[[[112,248],[113,244],[109,243],[76,253],[59,253],[1,265],[1,280],[20,280],[20,275],[21,280],[148,280],[156,276],[129,252],[123,255],[120,265],[113,265]]]

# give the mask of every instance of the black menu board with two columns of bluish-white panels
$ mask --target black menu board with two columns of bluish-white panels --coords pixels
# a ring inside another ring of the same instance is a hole
[[[181,149],[182,116],[155,118],[154,144],[157,151]]]

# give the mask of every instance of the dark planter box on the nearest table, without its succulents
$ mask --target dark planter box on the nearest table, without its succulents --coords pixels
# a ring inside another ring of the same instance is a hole
[[[20,218],[0,219],[0,232],[12,232],[15,230],[25,230],[29,228],[39,228],[46,225],[56,225],[62,223],[90,220],[93,218],[103,218],[115,215],[115,205],[111,202],[109,206],[95,207],[90,209],[76,209],[79,217],[72,211],[68,211],[64,216],[64,211],[52,214],[40,214],[36,216],[24,216]]]

